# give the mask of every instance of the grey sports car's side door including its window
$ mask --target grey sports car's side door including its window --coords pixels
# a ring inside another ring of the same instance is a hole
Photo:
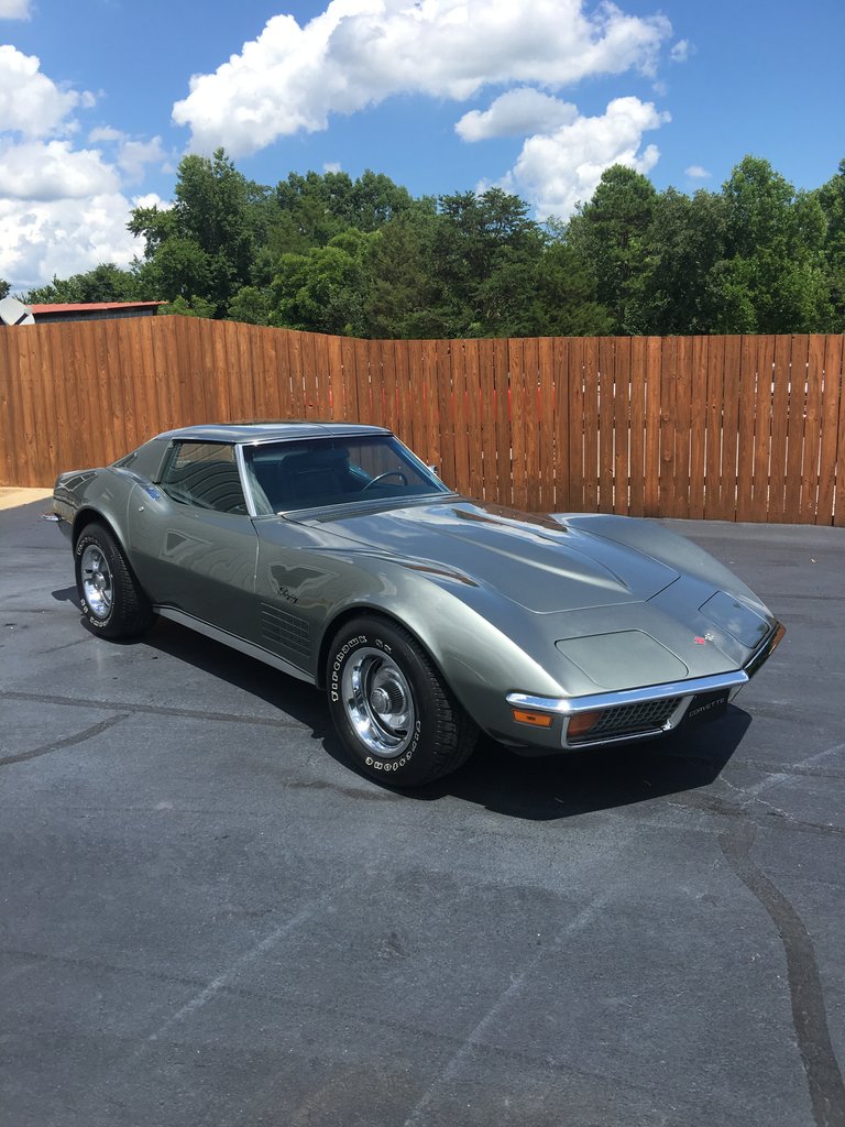
[[[160,480],[135,487],[128,517],[133,566],[155,604],[255,636],[258,536],[231,444],[174,443]]]

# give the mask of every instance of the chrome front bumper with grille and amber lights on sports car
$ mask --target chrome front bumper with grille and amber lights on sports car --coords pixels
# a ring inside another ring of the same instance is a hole
[[[742,685],[771,657],[785,632],[786,628],[776,622],[742,668],[730,673],[587,696],[549,698],[509,693],[507,703],[528,717],[562,717],[561,745],[572,751],[653,739],[677,728],[687,713],[704,718],[710,712],[719,711],[717,704],[733,700]],[[693,702],[695,708],[692,708]],[[579,721],[573,722],[575,718]],[[587,721],[592,721],[589,726]],[[531,722],[525,724],[526,728],[530,726]],[[573,735],[570,729],[578,734]]]

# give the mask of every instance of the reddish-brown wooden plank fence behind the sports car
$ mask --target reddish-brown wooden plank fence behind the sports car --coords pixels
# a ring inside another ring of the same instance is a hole
[[[534,511],[845,525],[844,336],[355,340],[160,317],[0,328],[0,483],[169,427],[346,419]]]

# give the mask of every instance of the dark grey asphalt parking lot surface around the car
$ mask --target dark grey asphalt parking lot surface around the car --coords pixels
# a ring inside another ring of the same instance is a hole
[[[0,512],[0,1122],[843,1127],[845,530],[669,522],[788,635],[727,717],[413,796],[322,696],[80,622]]]

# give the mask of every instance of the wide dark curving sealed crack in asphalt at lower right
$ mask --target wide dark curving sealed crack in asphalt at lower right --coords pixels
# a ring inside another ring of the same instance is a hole
[[[807,928],[790,900],[755,864],[750,850],[757,826],[737,811],[719,845],[731,869],[772,919],[786,955],[792,1022],[798,1038],[812,1115],[817,1127],[845,1127],[845,1084],[830,1041],[816,951]]]

